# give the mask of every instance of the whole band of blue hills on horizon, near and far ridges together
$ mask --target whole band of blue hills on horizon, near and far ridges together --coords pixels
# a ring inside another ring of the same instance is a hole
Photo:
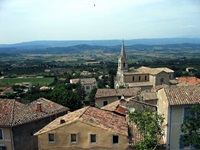
[[[166,51],[199,50],[200,38],[165,38],[125,40],[127,50]],[[45,53],[81,53],[86,50],[119,52],[122,40],[88,41],[32,41],[17,44],[0,44],[0,53],[7,54],[45,54]]]

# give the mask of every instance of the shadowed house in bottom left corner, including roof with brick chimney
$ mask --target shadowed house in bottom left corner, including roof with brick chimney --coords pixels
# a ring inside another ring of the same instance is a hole
[[[0,99],[0,150],[37,150],[33,134],[67,112],[68,108],[44,98],[29,104]]]

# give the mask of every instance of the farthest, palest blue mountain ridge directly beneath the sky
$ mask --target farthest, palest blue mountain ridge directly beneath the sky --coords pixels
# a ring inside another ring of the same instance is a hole
[[[47,48],[47,47],[68,47],[74,45],[99,45],[116,46],[121,45],[122,40],[74,40],[74,41],[31,41],[16,44],[0,44],[0,47],[21,47],[21,48]],[[126,46],[135,44],[163,45],[163,44],[200,44],[200,38],[158,38],[158,39],[132,39],[124,40]]]

